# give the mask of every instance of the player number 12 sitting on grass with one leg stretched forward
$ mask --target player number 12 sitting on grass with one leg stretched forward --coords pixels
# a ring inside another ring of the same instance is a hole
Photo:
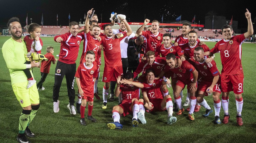
[[[151,69],[146,70],[144,88],[141,89],[144,99],[144,106],[149,112],[161,112],[167,110],[167,124],[172,124],[177,121],[176,117],[172,116],[173,104],[170,95],[163,95],[161,86],[170,84],[171,81],[167,78],[167,82],[163,79],[156,79],[154,71]]]

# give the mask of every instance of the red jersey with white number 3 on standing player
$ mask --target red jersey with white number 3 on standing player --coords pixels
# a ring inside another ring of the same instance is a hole
[[[113,67],[113,66],[121,66],[121,49],[120,43],[122,40],[125,40],[128,36],[127,33],[123,34],[121,38],[112,38],[107,36],[100,36],[102,45],[104,48],[104,60],[105,66]]]

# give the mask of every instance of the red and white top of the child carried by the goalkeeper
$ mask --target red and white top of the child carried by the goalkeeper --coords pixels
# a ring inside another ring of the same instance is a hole
[[[35,39],[29,39],[29,35],[25,36],[23,38],[24,42],[26,43],[27,51],[28,52],[35,52],[35,53],[40,53],[41,54],[41,49],[43,47],[43,41],[41,38],[39,38],[40,41],[40,47],[38,47]],[[39,43],[38,43],[39,44]],[[39,48],[40,50],[37,51],[36,49]]]

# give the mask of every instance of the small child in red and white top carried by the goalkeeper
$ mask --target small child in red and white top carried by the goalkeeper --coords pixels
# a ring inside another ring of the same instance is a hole
[[[31,23],[28,26],[28,33],[30,35],[27,35],[23,38],[24,42],[26,43],[28,54],[25,54],[26,61],[25,64],[30,64],[30,58],[33,56],[33,60],[35,61],[42,61],[47,60],[44,55],[41,55],[41,49],[43,46],[43,41],[41,40],[40,33],[41,33],[41,27],[40,25],[36,23]],[[35,54],[35,55],[34,55]],[[38,55],[36,55],[38,54]],[[38,57],[38,58],[37,58]],[[35,79],[32,77],[29,69],[23,70],[27,79],[28,79],[28,85],[27,89],[30,88],[33,84],[36,83]]]

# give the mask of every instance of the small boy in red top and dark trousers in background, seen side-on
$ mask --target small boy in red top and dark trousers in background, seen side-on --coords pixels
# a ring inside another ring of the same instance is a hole
[[[54,53],[53,47],[48,46],[46,48],[46,51],[47,51],[47,53],[45,54],[45,58],[47,58],[48,61],[42,61],[42,63],[41,63],[40,71],[41,71],[42,77],[41,77],[40,81],[36,84],[38,91],[45,90],[45,88],[43,87],[43,82],[45,82],[45,79],[46,79],[48,73],[50,72],[51,62],[53,64],[55,64],[55,62],[58,60],[57,58],[54,58],[54,56],[53,56],[53,53]]]

